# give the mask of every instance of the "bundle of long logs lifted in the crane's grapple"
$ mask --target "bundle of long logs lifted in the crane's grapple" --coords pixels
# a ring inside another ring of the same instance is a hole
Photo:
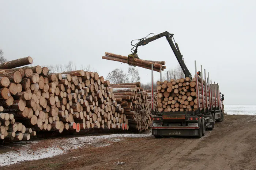
[[[146,68],[149,70],[151,70],[151,64],[153,64],[153,69],[154,69],[154,71],[157,71],[157,72],[160,72],[160,70],[163,71],[166,68],[166,66],[163,66],[163,65],[165,65],[165,62],[142,60],[142,59],[138,59],[138,58],[134,58],[134,59],[129,58],[129,60],[128,60],[127,56],[112,54],[109,52],[105,52],[105,56],[102,56],[102,59],[132,64],[134,66]]]

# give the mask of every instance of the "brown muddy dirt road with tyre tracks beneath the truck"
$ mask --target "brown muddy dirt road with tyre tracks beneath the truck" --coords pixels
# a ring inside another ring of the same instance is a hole
[[[256,169],[256,116],[227,115],[197,138],[105,139],[109,146],[83,146],[52,158],[1,169]],[[104,140],[102,141],[104,142]]]

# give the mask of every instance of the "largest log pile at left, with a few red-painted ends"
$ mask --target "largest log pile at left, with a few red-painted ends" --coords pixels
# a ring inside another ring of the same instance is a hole
[[[16,68],[31,59],[0,64],[0,139],[29,140],[41,131],[128,130],[125,109],[108,80],[83,70],[49,74],[41,66]]]

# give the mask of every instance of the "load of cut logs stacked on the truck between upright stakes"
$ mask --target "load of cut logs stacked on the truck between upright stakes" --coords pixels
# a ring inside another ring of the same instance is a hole
[[[202,78],[197,75],[199,88],[200,109],[202,110]],[[203,80],[203,84],[205,81]],[[189,77],[181,79],[171,79],[170,82],[157,82],[157,107],[158,111],[196,111],[197,94],[196,94],[196,78],[192,80]],[[208,89],[207,84],[207,89]],[[205,87],[203,86],[205,89]],[[205,94],[205,91],[204,91]],[[204,95],[206,96],[206,95]],[[204,99],[204,106],[209,107],[209,94]],[[215,104],[215,103],[214,103]]]

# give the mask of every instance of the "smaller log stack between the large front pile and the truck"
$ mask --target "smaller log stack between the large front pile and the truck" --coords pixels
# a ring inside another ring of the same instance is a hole
[[[135,131],[147,130],[152,126],[151,107],[148,94],[140,87],[140,82],[110,84],[116,101],[124,108],[129,128]]]

